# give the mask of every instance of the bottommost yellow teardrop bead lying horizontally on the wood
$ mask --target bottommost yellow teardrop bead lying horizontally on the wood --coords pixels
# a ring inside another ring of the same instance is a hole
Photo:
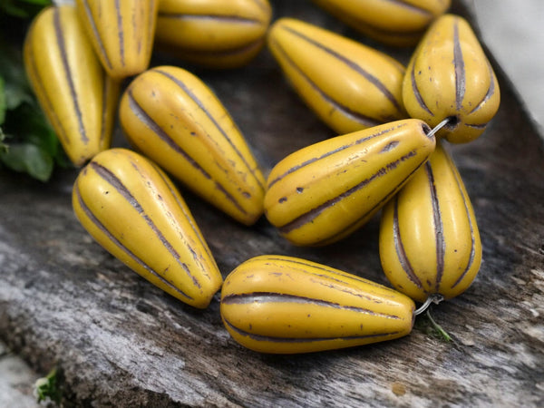
[[[221,290],[221,318],[240,345],[293,354],[392,340],[413,326],[413,301],[370,280],[296,257],[239,265]]]

